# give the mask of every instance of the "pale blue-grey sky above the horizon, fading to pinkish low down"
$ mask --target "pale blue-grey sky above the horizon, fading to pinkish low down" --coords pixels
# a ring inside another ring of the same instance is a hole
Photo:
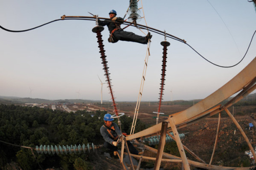
[[[148,27],[185,39],[211,62],[223,66],[236,64],[244,56],[256,30],[254,6],[246,0],[208,1],[147,0],[142,3]],[[0,25],[10,30],[26,30],[62,15],[90,16],[88,12],[91,12],[109,17],[112,9],[123,17],[128,6],[128,0],[1,1]],[[141,1],[138,6],[141,8]],[[143,19],[139,23],[145,25]],[[96,34],[92,32],[94,27],[95,21],[63,20],[23,33],[0,29],[0,95],[100,100],[97,75],[102,81],[105,77]],[[143,35],[134,27],[125,31]],[[164,37],[152,34],[142,101],[159,98],[163,48],[160,42]],[[106,27],[102,35],[116,101],[137,101],[147,45],[125,41],[109,43]],[[171,90],[173,100],[206,98],[256,56],[255,38],[245,59],[232,68],[212,65],[186,44],[167,38],[170,46],[163,100],[170,101]],[[106,84],[103,100],[110,100]]]

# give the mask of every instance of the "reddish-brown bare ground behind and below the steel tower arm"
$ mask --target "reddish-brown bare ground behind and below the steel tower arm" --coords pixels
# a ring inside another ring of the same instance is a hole
[[[187,109],[188,105],[166,105],[161,106],[161,112],[165,115],[173,114]],[[134,116],[135,106],[130,104],[122,104],[119,106],[120,111],[124,112],[127,116]],[[249,130],[249,123],[253,123],[256,126],[256,113],[246,113],[246,109],[254,109],[256,106],[237,107],[234,111],[234,117],[239,122],[240,126],[246,133],[252,146],[256,146],[256,135],[255,129]],[[139,108],[138,118],[150,125],[155,125],[156,114],[153,111],[157,111],[157,105],[141,105]],[[230,108],[230,111],[231,108]],[[237,115],[238,114],[238,115]],[[242,114],[242,115],[241,115]],[[166,116],[160,116],[159,122],[166,120]],[[218,117],[210,117],[186,128],[179,129],[179,133],[184,133],[185,138],[182,142],[188,149],[193,151],[197,156],[199,156],[206,163],[209,163],[214,149],[214,144],[216,140],[218,126]],[[242,161],[247,158],[244,151],[248,151],[248,145],[245,142],[244,137],[238,130],[236,125],[227,116],[226,113],[222,114],[220,131],[218,134],[218,142],[215,151],[215,155],[212,160],[212,164],[223,165],[223,166],[243,166]],[[196,160],[191,155],[187,154],[188,159]]]

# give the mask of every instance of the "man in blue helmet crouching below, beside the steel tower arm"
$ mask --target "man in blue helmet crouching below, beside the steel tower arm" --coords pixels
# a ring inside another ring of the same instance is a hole
[[[105,142],[103,147],[110,150],[110,153],[114,153],[114,156],[117,155],[117,144],[118,138],[121,136],[121,131],[117,124],[113,122],[112,115],[107,113],[104,115],[104,125],[100,128],[100,133],[103,136]],[[133,144],[130,141],[127,141],[129,150],[132,154],[138,155],[138,151],[134,148]]]

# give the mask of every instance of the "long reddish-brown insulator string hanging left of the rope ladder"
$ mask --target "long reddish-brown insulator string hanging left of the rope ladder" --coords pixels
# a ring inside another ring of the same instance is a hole
[[[99,53],[101,55],[101,60],[102,60],[102,64],[103,64],[103,70],[105,72],[105,77],[106,77],[106,82],[108,83],[108,87],[109,87],[109,90],[110,90],[110,94],[111,94],[111,99],[112,99],[112,102],[113,102],[113,109],[115,112],[116,115],[118,115],[118,112],[117,112],[117,107],[116,107],[116,103],[115,103],[115,98],[114,98],[114,94],[113,94],[113,90],[112,90],[112,85],[111,85],[111,79],[110,79],[110,73],[109,73],[109,67],[108,67],[108,61],[106,61],[106,56],[105,56],[105,50],[104,50],[104,45],[103,45],[103,40],[102,40],[102,35],[101,35],[101,31],[103,29],[101,28],[101,26],[97,26],[93,29],[93,32],[95,32],[97,34],[97,38],[98,38],[98,43],[99,43]]]

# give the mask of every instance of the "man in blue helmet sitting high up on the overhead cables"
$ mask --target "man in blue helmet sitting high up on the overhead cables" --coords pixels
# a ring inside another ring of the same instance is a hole
[[[115,43],[120,40],[147,44],[148,40],[152,38],[150,33],[148,33],[146,36],[140,36],[132,32],[123,31],[123,29],[120,27],[121,23],[123,22],[123,18],[117,17],[117,12],[115,10],[111,10],[109,15],[112,20],[98,20],[99,26],[108,26],[110,32],[110,37],[108,39],[109,42]]]

